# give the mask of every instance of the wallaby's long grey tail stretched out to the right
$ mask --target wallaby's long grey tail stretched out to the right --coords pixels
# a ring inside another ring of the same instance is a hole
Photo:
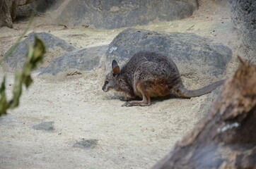
[[[225,82],[225,80],[220,80],[218,82],[209,84],[206,87],[202,87],[201,89],[195,89],[195,90],[188,90],[188,89],[185,89],[185,87],[178,87],[177,89],[175,89],[175,92],[179,96],[183,96],[185,98],[202,96],[202,95],[207,94],[207,93],[211,92],[212,90],[216,89],[216,87],[219,87],[221,84],[223,84],[223,82]]]

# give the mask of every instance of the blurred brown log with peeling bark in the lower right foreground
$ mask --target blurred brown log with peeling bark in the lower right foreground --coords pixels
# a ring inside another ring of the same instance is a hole
[[[256,65],[241,60],[208,115],[153,166],[256,168]]]

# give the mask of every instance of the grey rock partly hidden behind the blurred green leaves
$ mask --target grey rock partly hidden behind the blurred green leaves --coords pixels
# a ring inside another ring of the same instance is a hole
[[[71,44],[65,42],[63,39],[59,37],[55,37],[54,35],[41,32],[36,33],[38,37],[40,37],[44,42],[47,49],[47,53],[44,56],[44,64],[42,67],[46,67],[47,63],[52,61],[53,58],[57,58],[62,56],[64,52],[74,51],[76,48]],[[13,53],[6,58],[5,67],[8,70],[15,70],[16,68],[21,69],[23,67],[25,56],[28,51],[28,44],[34,44],[35,34],[30,34],[26,39],[18,44]],[[10,49],[11,50],[11,49]],[[9,51],[7,51],[8,53]]]

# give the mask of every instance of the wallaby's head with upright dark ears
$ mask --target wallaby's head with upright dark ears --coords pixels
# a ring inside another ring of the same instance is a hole
[[[112,70],[106,75],[105,82],[103,85],[103,91],[108,92],[110,89],[115,89],[115,81],[117,75],[120,73],[120,67],[117,61],[112,61]]]

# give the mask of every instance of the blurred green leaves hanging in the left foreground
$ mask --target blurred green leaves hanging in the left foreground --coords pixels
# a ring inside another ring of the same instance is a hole
[[[6,114],[8,108],[16,108],[22,93],[22,84],[29,87],[33,82],[31,78],[31,71],[37,68],[37,64],[42,62],[43,55],[45,54],[45,44],[42,39],[35,36],[35,45],[28,47],[28,54],[25,58],[25,63],[21,72],[16,71],[14,85],[13,85],[13,98],[11,101],[6,99],[6,77],[1,82],[0,88],[0,115]]]

